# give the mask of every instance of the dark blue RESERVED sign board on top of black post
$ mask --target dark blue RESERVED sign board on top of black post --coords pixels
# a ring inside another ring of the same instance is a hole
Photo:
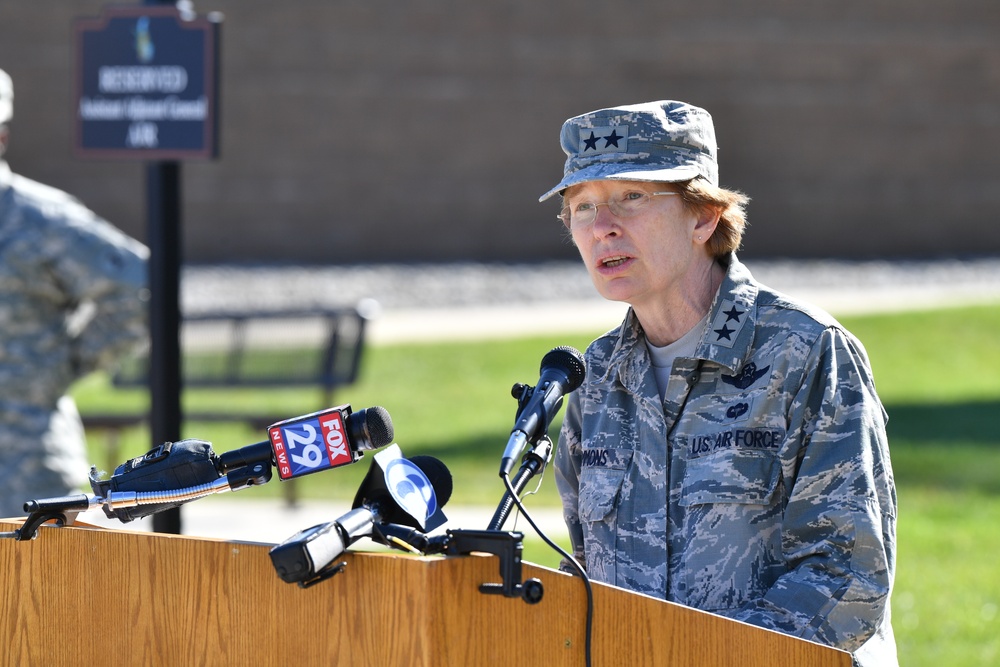
[[[80,157],[218,155],[219,19],[172,6],[105,8],[75,24]]]

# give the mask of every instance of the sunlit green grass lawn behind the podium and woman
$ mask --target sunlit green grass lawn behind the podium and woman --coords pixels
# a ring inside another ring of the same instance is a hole
[[[994,560],[1000,553],[1000,307],[843,321],[868,349],[889,413],[899,492],[893,625],[900,664],[1000,664],[1000,567]],[[592,337],[371,347],[362,380],[343,389],[337,402],[356,410],[385,407],[405,454],[436,456],[452,471],[455,491],[449,504],[496,506],[503,494],[497,468],[516,410],[511,386],[537,381],[539,362],[551,348],[583,350]],[[102,375],[79,383],[74,394],[83,412],[128,412],[146,400],[142,392],[112,389]],[[298,390],[221,397],[192,391],[184,397],[189,408],[288,417],[326,407],[319,400],[316,392]],[[558,418],[553,434],[557,426]],[[263,433],[240,425],[188,424],[184,435],[211,441],[217,452],[264,439]],[[99,433],[89,435],[95,462],[108,461],[105,442]],[[145,431],[132,429],[111,463],[148,447]],[[330,499],[335,508],[350,502],[366,470],[362,461],[302,478],[300,493]],[[274,482],[242,497],[278,496],[280,487]],[[527,504],[530,510],[558,502],[555,484],[547,478]],[[543,565],[558,561],[531,538],[524,557]]]

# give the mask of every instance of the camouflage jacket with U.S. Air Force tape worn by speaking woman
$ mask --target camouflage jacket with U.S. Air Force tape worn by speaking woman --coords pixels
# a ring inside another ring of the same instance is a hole
[[[587,349],[556,453],[601,581],[896,665],[896,494],[861,344],[729,260],[660,399],[632,311]]]

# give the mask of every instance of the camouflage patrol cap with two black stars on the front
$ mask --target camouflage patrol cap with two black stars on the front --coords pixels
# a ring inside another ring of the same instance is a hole
[[[719,184],[712,116],[663,100],[591,111],[563,123],[563,179],[538,201],[584,181],[674,183],[698,176]]]

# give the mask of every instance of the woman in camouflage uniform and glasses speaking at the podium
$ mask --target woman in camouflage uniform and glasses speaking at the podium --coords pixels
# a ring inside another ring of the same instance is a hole
[[[560,218],[606,299],[556,452],[597,581],[897,664],[896,493],[861,343],[736,258],[748,199],[711,116],[674,101],[567,120]],[[566,564],[564,564],[565,567]]]

